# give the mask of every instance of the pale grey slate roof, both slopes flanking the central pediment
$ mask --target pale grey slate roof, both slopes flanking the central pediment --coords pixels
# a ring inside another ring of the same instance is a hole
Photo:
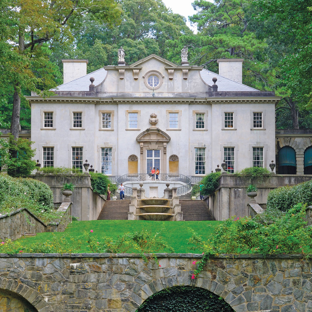
[[[90,77],[94,78],[94,85],[99,85],[106,77],[107,71],[104,68],[100,68],[92,73],[85,75],[83,77],[77,78],[70,82],[67,82],[63,85],[59,85],[55,89],[51,89],[51,91],[89,91]],[[217,77],[217,86],[218,91],[258,91],[257,89],[248,87],[247,85],[243,85],[239,82],[227,79],[223,76],[220,76],[212,71],[208,71],[207,69],[203,69],[200,72],[202,79],[208,84],[212,85],[212,78]]]

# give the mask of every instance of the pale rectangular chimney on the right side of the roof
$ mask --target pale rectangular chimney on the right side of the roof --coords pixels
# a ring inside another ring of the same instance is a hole
[[[218,59],[219,75],[242,83],[242,65],[244,59]]]

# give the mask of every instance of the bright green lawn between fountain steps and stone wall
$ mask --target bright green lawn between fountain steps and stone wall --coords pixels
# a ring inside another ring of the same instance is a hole
[[[94,220],[94,221],[73,221],[65,230],[65,232],[55,233],[38,233],[36,236],[21,238],[18,240],[22,246],[27,247],[34,244],[51,241],[53,235],[56,237],[64,236],[64,239],[70,241],[71,238],[78,240],[85,231],[93,230],[92,236],[101,242],[104,236],[117,238],[118,235],[123,235],[128,232],[136,232],[146,229],[152,232],[161,232],[163,240],[172,246],[176,253],[202,253],[201,250],[191,250],[187,245],[187,240],[190,237],[188,228],[192,228],[195,232],[206,238],[213,232],[213,228],[220,224],[221,221],[132,221],[132,220]],[[86,246],[85,241],[82,241],[80,252],[91,252]],[[169,252],[163,250],[161,252]]]

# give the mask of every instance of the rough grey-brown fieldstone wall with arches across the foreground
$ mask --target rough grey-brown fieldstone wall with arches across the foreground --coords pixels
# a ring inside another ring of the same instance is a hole
[[[175,285],[210,290],[236,312],[312,311],[312,262],[300,255],[214,257],[193,280],[201,255],[157,256],[160,267],[133,254],[1,254],[0,289],[39,312],[134,312]]]

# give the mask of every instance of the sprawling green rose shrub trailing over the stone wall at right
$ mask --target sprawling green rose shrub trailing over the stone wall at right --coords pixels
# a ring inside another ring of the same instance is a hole
[[[227,219],[215,228],[206,241],[190,229],[192,236],[189,244],[197,248],[201,246],[204,250],[202,259],[196,263],[194,277],[202,271],[209,255],[295,253],[308,257],[312,250],[312,227],[305,227],[305,207],[297,204],[271,222],[265,222],[265,216]]]

